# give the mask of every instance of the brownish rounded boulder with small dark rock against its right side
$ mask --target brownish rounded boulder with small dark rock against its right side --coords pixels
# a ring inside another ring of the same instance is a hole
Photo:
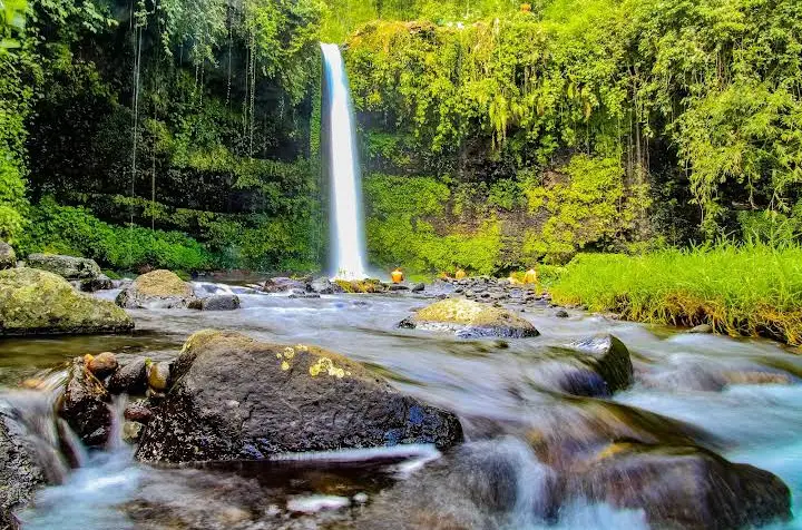
[[[169,271],[154,271],[137,277],[115,301],[120,307],[187,307],[195,300],[192,286]]]

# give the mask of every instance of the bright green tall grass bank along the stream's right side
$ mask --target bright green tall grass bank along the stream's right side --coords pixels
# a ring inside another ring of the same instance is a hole
[[[558,304],[585,304],[626,320],[694,326],[802,344],[802,247],[762,244],[583,254],[550,288]]]

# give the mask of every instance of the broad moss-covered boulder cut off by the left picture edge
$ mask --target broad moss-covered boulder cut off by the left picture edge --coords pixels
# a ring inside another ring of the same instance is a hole
[[[134,321],[125,311],[78,293],[56,274],[35,268],[0,271],[0,336],[133,328]]]

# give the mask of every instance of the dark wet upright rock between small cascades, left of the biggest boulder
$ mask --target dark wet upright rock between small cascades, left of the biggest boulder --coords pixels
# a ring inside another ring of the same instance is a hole
[[[105,445],[108,441],[113,420],[110,401],[111,396],[84,360],[76,360],[58,412],[86,445]]]

